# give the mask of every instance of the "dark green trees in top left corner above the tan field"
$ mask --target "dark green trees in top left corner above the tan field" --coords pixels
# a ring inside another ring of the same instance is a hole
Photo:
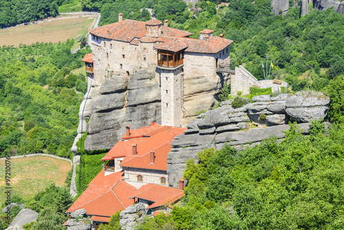
[[[0,2],[0,28],[46,17],[56,17],[58,3],[61,2],[63,3],[63,0],[2,0]]]

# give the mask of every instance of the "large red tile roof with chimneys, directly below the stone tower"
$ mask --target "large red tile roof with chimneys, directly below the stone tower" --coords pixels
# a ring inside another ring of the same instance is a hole
[[[122,139],[103,157],[109,160],[125,157],[122,167],[141,169],[167,169],[167,154],[171,150],[171,141],[184,132],[185,128],[171,127],[152,123],[149,127],[130,130],[130,136]],[[133,144],[137,145],[137,155],[133,155]],[[154,151],[154,163],[150,163],[150,152]]]

